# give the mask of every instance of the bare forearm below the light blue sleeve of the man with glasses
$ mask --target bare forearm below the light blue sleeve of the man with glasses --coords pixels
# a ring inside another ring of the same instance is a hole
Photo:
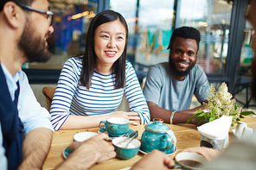
[[[26,135],[22,148],[22,169],[42,169],[51,146],[53,132],[50,129],[33,129]]]

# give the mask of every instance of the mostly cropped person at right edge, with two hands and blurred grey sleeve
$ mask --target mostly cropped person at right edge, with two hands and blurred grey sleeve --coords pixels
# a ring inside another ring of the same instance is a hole
[[[253,49],[251,68],[253,73],[252,94],[253,98],[256,99],[256,0],[250,1],[246,19],[251,23],[254,29],[251,43],[251,48]],[[256,167],[256,131],[254,129],[254,133],[249,139],[231,142],[223,153],[213,148],[204,147],[185,148],[181,152],[201,154],[208,159],[208,161],[212,161],[208,167],[202,167],[201,169],[254,170]],[[172,169],[175,164],[175,161],[173,161],[167,154],[154,150],[150,154],[146,154],[143,159],[138,161],[131,168],[131,170]]]

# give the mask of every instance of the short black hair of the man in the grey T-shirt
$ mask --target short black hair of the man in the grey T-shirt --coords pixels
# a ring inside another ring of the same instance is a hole
[[[196,41],[197,44],[197,52],[199,50],[199,42],[201,40],[200,32],[196,28],[192,27],[181,27],[174,29],[171,37],[170,37],[170,44],[168,49],[172,48],[172,44],[175,41],[176,37],[182,37],[184,39],[192,39]]]

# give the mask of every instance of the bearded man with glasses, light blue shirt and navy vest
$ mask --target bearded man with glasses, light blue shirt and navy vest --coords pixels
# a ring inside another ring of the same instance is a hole
[[[54,32],[53,14],[47,0],[0,2],[1,169],[42,169],[48,155],[54,131],[50,115],[36,101],[21,67],[25,62],[49,60],[47,39]],[[71,148],[80,149],[58,168],[91,167],[114,157],[107,139],[97,135],[88,142],[73,143]]]

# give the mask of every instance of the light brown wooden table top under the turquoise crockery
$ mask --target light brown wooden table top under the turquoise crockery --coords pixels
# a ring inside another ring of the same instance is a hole
[[[246,116],[246,118],[241,119],[241,122],[246,122],[248,127],[256,128],[256,118],[253,116]],[[167,126],[173,130],[177,139],[177,152],[182,150],[183,148],[189,147],[199,147],[200,146],[200,134],[196,129],[196,126],[193,124],[168,124]],[[138,130],[138,139],[141,138],[142,133],[144,132],[144,125],[139,126],[131,126],[133,130]],[[231,127],[234,129],[235,127]],[[234,136],[232,135],[231,129],[229,131],[230,141],[232,142]],[[73,130],[59,130],[54,131],[52,145],[48,154],[48,157],[42,167],[42,169],[54,169],[57,167],[62,161],[65,159],[62,156],[62,152],[71,142],[73,142],[74,134],[89,130],[90,132],[98,132],[99,128],[92,129],[73,129]],[[111,142],[110,142],[111,144]],[[177,153],[176,152],[176,153]],[[91,169],[121,169],[125,167],[131,167],[135,162],[139,161],[144,154],[140,152],[135,157],[130,160],[120,160],[118,158],[114,158],[109,161],[105,161],[94,165]],[[170,157],[174,157],[175,154],[170,155]]]

